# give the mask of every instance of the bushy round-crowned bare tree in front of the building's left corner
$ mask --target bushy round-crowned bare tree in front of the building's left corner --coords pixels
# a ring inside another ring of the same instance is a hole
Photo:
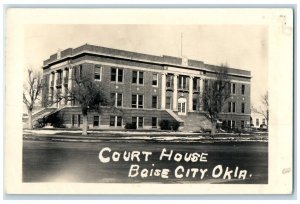
[[[101,113],[102,106],[107,106],[109,101],[100,83],[90,77],[81,77],[80,79],[75,77],[73,82],[75,83],[73,83],[72,89],[67,90],[66,100],[76,101],[80,105],[83,116],[82,135],[87,135],[88,112]]]

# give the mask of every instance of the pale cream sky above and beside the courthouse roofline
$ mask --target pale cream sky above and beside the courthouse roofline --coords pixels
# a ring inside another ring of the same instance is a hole
[[[181,41],[182,33],[182,41]],[[267,91],[268,28],[263,25],[35,24],[25,29],[26,67],[40,69],[59,49],[85,43],[153,55],[181,56],[251,71],[251,103]]]

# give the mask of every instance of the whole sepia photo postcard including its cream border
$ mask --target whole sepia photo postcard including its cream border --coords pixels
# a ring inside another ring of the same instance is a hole
[[[54,10],[8,11],[12,192],[291,192],[291,9]]]

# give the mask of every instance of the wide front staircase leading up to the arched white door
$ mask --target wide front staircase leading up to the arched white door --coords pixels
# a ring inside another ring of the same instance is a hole
[[[202,132],[211,130],[210,119],[206,116],[206,113],[201,112],[189,112],[186,116],[180,116],[184,121],[184,132]]]

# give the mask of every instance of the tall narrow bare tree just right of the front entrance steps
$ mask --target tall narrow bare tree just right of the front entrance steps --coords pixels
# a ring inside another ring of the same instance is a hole
[[[219,114],[222,112],[226,100],[231,96],[230,79],[226,65],[221,65],[216,75],[216,79],[205,81],[201,98],[204,110],[208,112],[211,121],[211,135],[216,133]]]

